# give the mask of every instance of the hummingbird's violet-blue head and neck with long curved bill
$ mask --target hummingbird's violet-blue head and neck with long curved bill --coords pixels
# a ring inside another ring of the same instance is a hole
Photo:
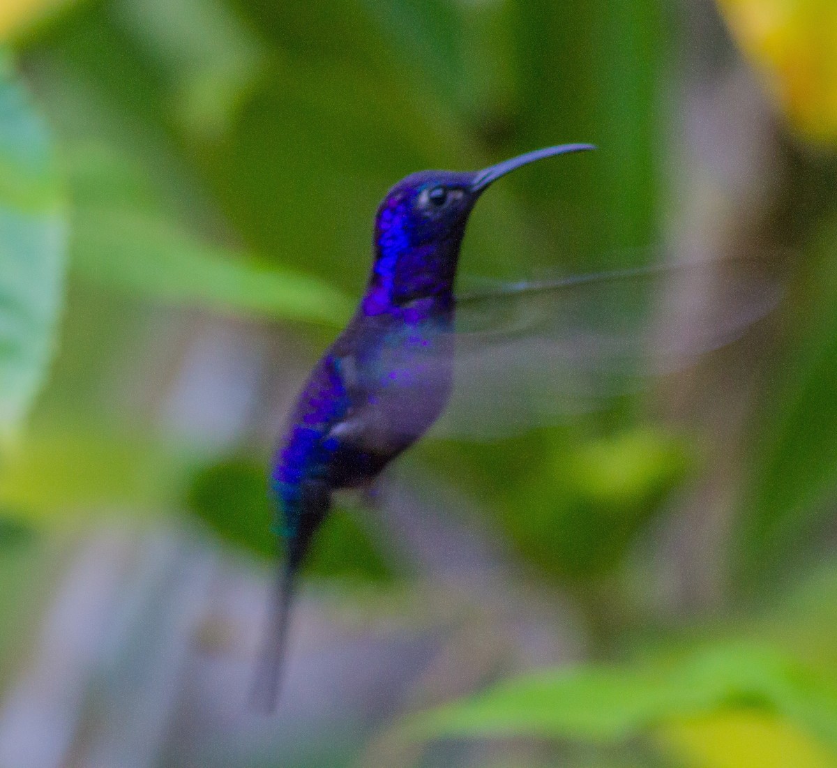
[[[392,305],[453,288],[465,225],[480,195],[515,168],[553,155],[593,149],[564,144],[527,152],[482,171],[423,171],[403,178],[375,218],[375,264],[364,308]]]

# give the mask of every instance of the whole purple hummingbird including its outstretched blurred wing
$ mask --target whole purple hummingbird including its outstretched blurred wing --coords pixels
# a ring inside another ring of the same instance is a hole
[[[668,340],[655,335],[649,340],[647,332],[640,332],[647,329],[635,310],[647,305],[645,289],[653,289],[655,275],[666,271],[651,267],[514,284],[482,297],[489,298],[492,307],[503,307],[522,294],[537,300],[555,294],[555,289],[594,289],[600,295],[592,304],[588,298],[579,303],[566,292],[560,303],[547,300],[542,304],[542,319],[558,328],[568,345],[557,343],[552,331],[541,336],[523,334],[521,340],[521,334],[515,332],[519,317],[511,320],[511,333],[508,327],[500,333],[480,328],[480,307],[485,302],[454,297],[460,246],[475,203],[493,182],[516,168],[592,149],[590,144],[565,144],[531,151],[477,172],[413,173],[398,182],[378,207],[374,262],[366,291],[346,329],[308,376],[275,453],[271,490],[280,513],[285,563],[256,679],[256,698],[265,708],[274,707],[279,691],[295,581],[311,540],[331,507],[332,494],[371,485],[393,458],[437,422],[453,390],[454,361],[471,366],[464,376],[465,389],[487,392],[483,399],[492,403],[488,421],[501,422],[504,416],[513,420],[518,417],[517,404],[501,390],[491,390],[495,384],[502,387],[504,381],[516,376],[530,392],[537,391],[536,397],[549,401],[547,408],[552,407],[556,397],[552,387],[542,386],[542,381],[552,385],[557,377],[566,377],[567,371],[584,373],[585,368],[598,368],[593,381],[599,386],[604,381],[608,388],[613,376],[621,375],[625,360],[644,356],[649,341],[655,347],[655,361],[669,368],[680,367],[688,355],[736,338],[775,303],[775,292],[765,290],[764,284],[751,276],[728,281],[732,293],[727,294],[723,316],[704,337],[690,341],[683,350],[680,335]],[[626,279],[633,283],[626,287]],[[613,286],[618,287],[616,292],[611,290]],[[534,322],[532,304],[528,302],[528,315],[522,320],[526,329]],[[742,305],[747,307],[744,312]],[[454,333],[454,316],[456,330],[460,330],[463,316],[474,308],[478,330],[470,338]],[[643,325],[636,325],[638,317]],[[617,337],[600,335],[592,343],[588,339],[582,345],[583,365],[578,361],[563,365],[567,355],[581,357],[574,329],[581,327],[587,334],[602,318],[618,328]],[[474,354],[474,342],[487,347],[490,354]],[[486,367],[488,358],[491,366]],[[502,375],[492,375],[492,371]],[[574,385],[579,394],[588,397],[590,381],[582,375],[571,381],[570,387]],[[618,389],[624,390],[623,381]],[[510,412],[504,414],[504,407]]]

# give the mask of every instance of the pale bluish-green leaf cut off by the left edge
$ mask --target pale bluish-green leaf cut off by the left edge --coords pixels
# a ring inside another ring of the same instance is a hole
[[[49,132],[0,51],[0,439],[18,431],[53,356],[62,202]]]

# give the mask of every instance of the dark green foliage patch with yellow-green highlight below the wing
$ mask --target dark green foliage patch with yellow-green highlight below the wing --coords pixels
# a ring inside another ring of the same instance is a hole
[[[564,583],[618,566],[694,463],[685,441],[662,428],[590,431],[541,430],[420,450],[439,473],[455,461],[458,484],[493,511],[522,558]],[[526,465],[511,474],[514,456],[526,457]]]

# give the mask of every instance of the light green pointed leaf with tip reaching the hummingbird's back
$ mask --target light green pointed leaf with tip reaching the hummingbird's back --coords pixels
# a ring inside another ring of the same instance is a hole
[[[109,151],[71,155],[73,269],[95,284],[209,310],[345,322],[352,303],[324,281],[203,242],[162,211],[162,195]]]

